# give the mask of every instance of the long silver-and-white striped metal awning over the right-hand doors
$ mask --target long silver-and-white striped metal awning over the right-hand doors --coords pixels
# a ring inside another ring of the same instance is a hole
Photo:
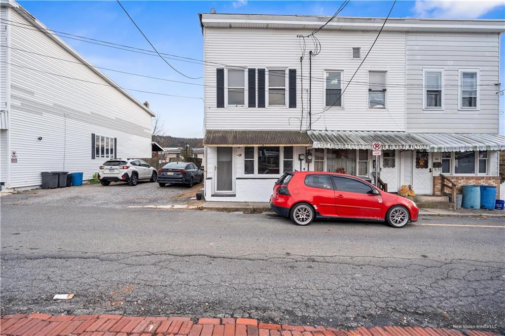
[[[308,131],[308,134],[314,148],[371,149],[374,142],[380,142],[383,149],[431,152],[505,149],[505,137],[498,134],[380,131]]]

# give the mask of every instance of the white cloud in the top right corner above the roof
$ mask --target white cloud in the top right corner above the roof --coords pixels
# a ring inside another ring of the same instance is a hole
[[[500,6],[502,0],[416,0],[414,11],[418,17],[475,19]]]

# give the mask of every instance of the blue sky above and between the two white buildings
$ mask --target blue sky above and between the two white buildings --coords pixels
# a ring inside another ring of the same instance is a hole
[[[150,49],[115,1],[20,1],[31,14],[53,30]],[[333,15],[342,1],[124,1],[123,6],[160,52],[203,59],[203,41],[198,13],[215,8],[218,13]],[[352,0],[341,16],[385,17],[390,1]],[[398,1],[391,17],[504,19],[502,1]],[[501,69],[505,69],[505,35],[501,38]],[[91,64],[116,70],[179,81],[188,80],[161,59],[76,40],[66,41]],[[181,72],[200,77],[199,64],[169,60]],[[185,96],[203,96],[197,85],[186,85],[104,71],[119,85],[144,91]],[[505,83],[504,71],[500,82]],[[503,85],[502,85],[503,88]],[[131,92],[139,101],[149,101],[161,118],[167,135],[201,137],[203,101]],[[500,111],[503,117],[503,97]],[[502,123],[502,126],[505,123]],[[503,132],[503,130],[502,130]]]

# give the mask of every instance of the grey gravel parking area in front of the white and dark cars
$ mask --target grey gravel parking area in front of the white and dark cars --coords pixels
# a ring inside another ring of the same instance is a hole
[[[158,183],[139,182],[132,187],[126,183],[84,184],[79,187],[26,190],[0,199],[2,205],[69,205],[124,208],[128,205],[165,205],[186,202],[204,187],[179,185],[160,187]]]

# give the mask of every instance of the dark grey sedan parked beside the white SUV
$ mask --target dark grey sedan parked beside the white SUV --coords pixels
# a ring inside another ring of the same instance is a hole
[[[204,181],[204,173],[192,162],[169,162],[158,170],[158,184],[185,184],[192,187],[195,183]]]

